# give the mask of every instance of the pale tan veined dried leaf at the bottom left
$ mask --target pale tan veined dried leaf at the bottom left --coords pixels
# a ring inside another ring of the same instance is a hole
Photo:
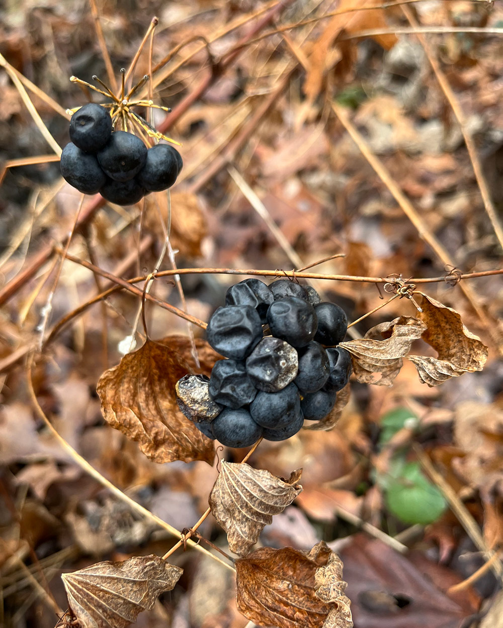
[[[172,590],[183,571],[158,556],[133,556],[65,573],[62,579],[80,628],[125,628]]]

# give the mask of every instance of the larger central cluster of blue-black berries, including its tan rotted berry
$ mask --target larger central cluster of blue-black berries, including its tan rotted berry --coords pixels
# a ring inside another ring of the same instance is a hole
[[[351,374],[350,354],[335,346],[348,326],[340,306],[287,279],[270,286],[245,279],[229,288],[225,303],[206,333],[227,359],[211,377],[177,382],[185,416],[227,447],[248,447],[260,436],[285,440],[304,420],[326,416]]]

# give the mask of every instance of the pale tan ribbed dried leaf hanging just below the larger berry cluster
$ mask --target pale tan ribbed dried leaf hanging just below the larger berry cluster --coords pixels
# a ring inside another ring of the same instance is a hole
[[[222,460],[209,506],[227,533],[231,551],[240,556],[248,554],[272,516],[284,511],[301,492],[297,484],[301,473],[302,469],[294,471],[285,481],[246,463]]]

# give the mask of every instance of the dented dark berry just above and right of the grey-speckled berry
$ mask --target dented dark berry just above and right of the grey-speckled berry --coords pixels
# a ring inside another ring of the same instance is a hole
[[[284,296],[267,310],[272,335],[286,340],[292,347],[305,347],[314,338],[318,319],[309,301],[298,296]]]

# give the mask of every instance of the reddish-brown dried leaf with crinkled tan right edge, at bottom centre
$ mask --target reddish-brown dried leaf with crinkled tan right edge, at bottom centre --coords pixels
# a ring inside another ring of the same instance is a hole
[[[262,626],[351,628],[341,566],[324,541],[309,553],[293,548],[257,549],[236,560],[238,609]]]

